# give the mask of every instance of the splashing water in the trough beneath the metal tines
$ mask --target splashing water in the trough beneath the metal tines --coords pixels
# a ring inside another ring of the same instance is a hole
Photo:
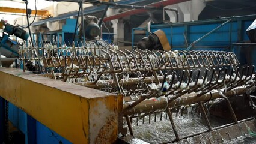
[[[175,113],[173,115],[174,123],[180,137],[207,130],[206,122],[201,115],[195,114],[192,107],[187,107],[186,114],[183,113],[183,115],[180,115],[180,113],[181,112],[178,113],[178,116],[175,116]],[[212,115],[209,116],[209,120],[212,128],[230,123],[227,119],[217,118]],[[144,124],[142,124],[143,121],[145,122]],[[146,116],[144,120],[141,118],[138,119],[138,121],[134,118],[132,119],[132,127],[135,137],[148,143],[168,142],[169,140],[175,139],[174,131],[172,130],[171,123],[166,113],[162,114],[162,121],[160,120],[160,113],[157,113],[156,122],[154,122],[154,114],[151,114],[150,124],[148,116]],[[232,140],[222,139],[221,141],[222,143],[255,143],[256,133],[249,130],[250,129],[248,129],[249,137],[242,136]],[[190,139],[190,141],[189,143],[194,143],[192,139]],[[217,143],[215,139],[211,139],[211,142]]]

